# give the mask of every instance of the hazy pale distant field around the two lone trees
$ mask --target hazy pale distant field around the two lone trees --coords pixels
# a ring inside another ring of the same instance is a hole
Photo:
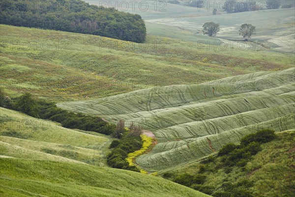
[[[106,1],[86,0],[86,2],[103,5]],[[133,6],[128,3],[128,8],[124,4],[120,4],[119,1],[110,0],[107,2],[105,4],[107,7],[113,5],[118,10],[126,10],[126,12],[141,15],[147,22],[147,32],[150,35],[161,35],[195,42],[203,40],[209,41],[211,45],[216,45],[214,40],[218,40],[243,48],[244,46],[240,46],[239,43],[234,41],[243,40],[238,30],[243,23],[248,23],[256,26],[256,35],[253,35],[251,40],[259,41],[277,52],[295,53],[294,8],[267,10],[265,1],[257,1],[258,11],[227,14],[222,11],[222,8],[218,7],[220,0],[215,0],[211,2],[211,5],[215,2],[220,14],[213,15],[212,7],[184,6],[183,3],[187,3],[189,0],[180,0],[181,4],[171,4],[167,1],[139,0]],[[141,4],[141,2],[143,3]],[[115,6],[116,3],[117,6]],[[287,1],[283,2],[283,4],[285,3]],[[148,8],[146,8],[146,4]],[[133,7],[134,9],[132,9]],[[145,11],[145,9],[147,10]],[[215,39],[202,35],[203,25],[209,21],[220,24],[221,30],[217,33]],[[156,26],[156,24],[160,24],[160,26]],[[251,44],[248,43],[248,45]]]

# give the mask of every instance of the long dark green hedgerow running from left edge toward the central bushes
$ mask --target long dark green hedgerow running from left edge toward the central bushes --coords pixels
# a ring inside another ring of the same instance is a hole
[[[4,97],[3,95],[3,93],[0,94],[0,99]],[[59,122],[65,128],[94,131],[107,135],[113,134],[116,128],[115,125],[109,124],[97,116],[63,110],[57,107],[54,102],[34,99],[29,93],[10,100],[8,104],[5,102],[5,105],[0,103],[0,106],[21,111],[35,118]]]

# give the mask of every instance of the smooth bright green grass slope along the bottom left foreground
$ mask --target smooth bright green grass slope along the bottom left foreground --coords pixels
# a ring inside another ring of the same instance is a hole
[[[94,165],[0,158],[5,197],[209,197],[171,181]]]

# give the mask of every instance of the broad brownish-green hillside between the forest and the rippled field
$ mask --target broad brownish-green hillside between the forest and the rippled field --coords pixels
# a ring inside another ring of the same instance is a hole
[[[0,29],[0,85],[12,97],[29,91],[58,101],[101,98],[295,64],[293,55],[269,50],[214,52],[195,42],[153,35],[139,45],[79,33]]]

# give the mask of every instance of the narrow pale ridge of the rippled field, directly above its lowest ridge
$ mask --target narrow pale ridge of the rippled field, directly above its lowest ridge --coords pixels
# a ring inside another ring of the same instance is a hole
[[[154,134],[157,136],[159,142],[173,139],[186,139],[194,138],[197,136],[206,136],[212,134],[213,127],[211,127],[210,125],[218,127],[219,130],[223,132],[247,125],[256,124],[259,122],[265,122],[277,118],[277,116],[294,113],[294,109],[295,103],[291,103],[276,107],[243,112],[225,117],[218,117],[205,121],[179,124],[172,127],[156,130],[154,131]],[[191,128],[191,130],[194,131],[193,135],[187,132],[187,127]],[[165,136],[163,136],[163,133],[165,133]]]

